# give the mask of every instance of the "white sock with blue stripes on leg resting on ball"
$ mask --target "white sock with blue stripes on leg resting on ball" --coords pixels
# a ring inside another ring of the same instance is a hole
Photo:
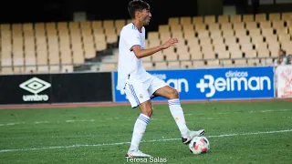
[[[185,137],[189,132],[189,128],[187,128],[185,123],[183,108],[181,107],[180,99],[170,99],[168,100],[168,105],[170,107],[172,117],[174,118],[177,127],[181,131],[182,137]]]

